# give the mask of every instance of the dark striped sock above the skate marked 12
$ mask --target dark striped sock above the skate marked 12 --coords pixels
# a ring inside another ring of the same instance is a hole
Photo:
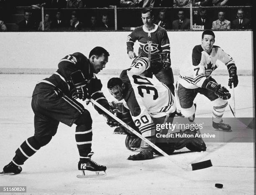
[[[92,148],[92,127],[86,125],[77,125],[76,127],[76,142],[80,155],[80,160],[90,158]]]

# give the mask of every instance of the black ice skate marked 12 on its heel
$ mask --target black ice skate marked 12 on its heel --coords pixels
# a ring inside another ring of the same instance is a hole
[[[78,170],[82,171],[82,175],[77,175],[77,178],[105,176],[106,169],[106,166],[95,163],[91,158],[80,160],[78,162]],[[90,174],[91,171],[95,171],[96,174]],[[100,173],[100,171],[104,171],[104,173]]]

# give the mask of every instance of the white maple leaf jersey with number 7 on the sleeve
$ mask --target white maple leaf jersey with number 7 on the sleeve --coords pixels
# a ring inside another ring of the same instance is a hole
[[[218,68],[217,60],[223,62],[228,70],[235,66],[233,58],[220,47],[213,46],[212,51],[208,54],[201,45],[196,45],[192,50],[192,65],[191,62],[184,64],[179,72],[179,84],[188,89],[206,87],[210,82],[207,78]]]

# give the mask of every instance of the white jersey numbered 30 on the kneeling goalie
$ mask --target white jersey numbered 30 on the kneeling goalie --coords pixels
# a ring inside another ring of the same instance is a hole
[[[123,70],[120,78],[126,86],[126,94],[122,100],[143,136],[154,128],[151,117],[163,117],[176,110],[174,96],[169,88],[155,77],[148,78],[134,75],[131,71]],[[149,135],[148,135],[149,136]]]

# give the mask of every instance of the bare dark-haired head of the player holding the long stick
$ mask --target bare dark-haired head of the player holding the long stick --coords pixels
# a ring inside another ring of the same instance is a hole
[[[103,47],[94,47],[89,54],[89,61],[94,68],[94,73],[99,73],[100,70],[105,68],[108,62],[109,53]]]

